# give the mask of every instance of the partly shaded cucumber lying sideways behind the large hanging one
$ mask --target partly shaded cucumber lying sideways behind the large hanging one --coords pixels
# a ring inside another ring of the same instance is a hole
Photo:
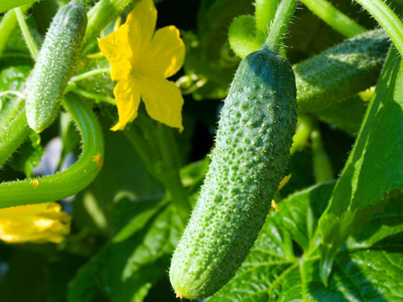
[[[376,29],[296,64],[298,111],[323,109],[375,85],[389,46],[386,32]]]

